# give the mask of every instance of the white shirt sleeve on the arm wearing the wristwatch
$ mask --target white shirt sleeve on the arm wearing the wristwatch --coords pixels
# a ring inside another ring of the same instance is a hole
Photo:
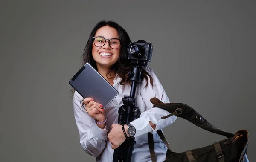
[[[142,134],[151,132],[152,134],[156,133],[157,130],[160,130],[170,124],[172,124],[176,119],[177,116],[171,116],[166,119],[161,119],[163,116],[167,116],[170,113],[166,110],[163,110],[158,107],[153,107],[153,104],[150,102],[150,99],[153,97],[158,98],[163,103],[170,103],[169,98],[166,95],[165,90],[163,89],[162,84],[160,83],[159,79],[151,69],[151,67],[146,66],[145,70],[148,72],[149,75],[153,78],[153,87],[151,86],[150,82],[148,82],[148,86],[145,87],[146,81],[143,79],[141,84],[141,96],[143,101],[146,105],[146,111],[141,113],[140,118],[135,119],[134,121],[130,122],[136,128],[136,136],[140,136]],[[144,88],[145,87],[145,88]],[[154,130],[149,121],[156,124],[156,129]]]

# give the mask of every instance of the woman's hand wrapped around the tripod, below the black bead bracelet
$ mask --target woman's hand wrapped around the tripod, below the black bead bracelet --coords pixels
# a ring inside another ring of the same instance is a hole
[[[127,132],[128,126],[124,125],[124,128],[125,132]],[[129,135],[127,134],[127,136]],[[125,139],[126,138],[124,132],[122,131],[122,126],[120,124],[113,124],[111,126],[110,133],[108,133],[108,140],[112,144],[111,148],[118,148],[125,141]]]

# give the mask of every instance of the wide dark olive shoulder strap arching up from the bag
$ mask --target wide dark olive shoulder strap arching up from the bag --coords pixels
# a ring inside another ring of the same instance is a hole
[[[189,107],[187,104],[183,103],[163,103],[158,98],[154,97],[150,99],[151,103],[154,107],[158,107],[168,111],[168,116],[163,116],[162,119],[166,119],[172,115],[181,117],[183,119],[188,120],[192,124],[195,124],[198,127],[203,128],[212,133],[216,133],[219,135],[226,136],[227,138],[231,138],[234,136],[232,133],[225,132],[211,123],[209,123],[206,119],[204,119],[198,112],[196,112],[192,107]]]

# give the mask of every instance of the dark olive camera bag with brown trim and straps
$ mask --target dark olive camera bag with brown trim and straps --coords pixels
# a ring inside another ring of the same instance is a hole
[[[163,132],[157,130],[157,134],[168,148],[164,162],[249,162],[247,158],[249,139],[247,130],[238,130],[235,134],[228,133],[207,122],[206,119],[192,107],[189,107],[189,105],[183,103],[163,103],[158,98],[151,98],[150,101],[154,107],[164,109],[171,113],[168,116],[163,116],[162,119],[175,115],[188,120],[204,130],[227,137],[227,139],[214,142],[212,145],[206,147],[176,153],[172,152]],[[148,133],[148,142],[151,160],[152,162],[156,162],[153,135],[151,133]]]

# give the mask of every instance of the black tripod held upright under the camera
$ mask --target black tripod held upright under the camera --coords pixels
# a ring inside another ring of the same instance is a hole
[[[123,105],[118,110],[118,124],[128,124],[140,117],[140,109],[135,107],[135,92],[137,83],[141,81],[141,66],[146,66],[147,61],[132,60],[135,63],[133,70],[129,72],[131,81],[130,96],[122,98]],[[131,155],[136,141],[134,138],[126,139],[118,148],[114,150],[113,162],[131,162]]]

